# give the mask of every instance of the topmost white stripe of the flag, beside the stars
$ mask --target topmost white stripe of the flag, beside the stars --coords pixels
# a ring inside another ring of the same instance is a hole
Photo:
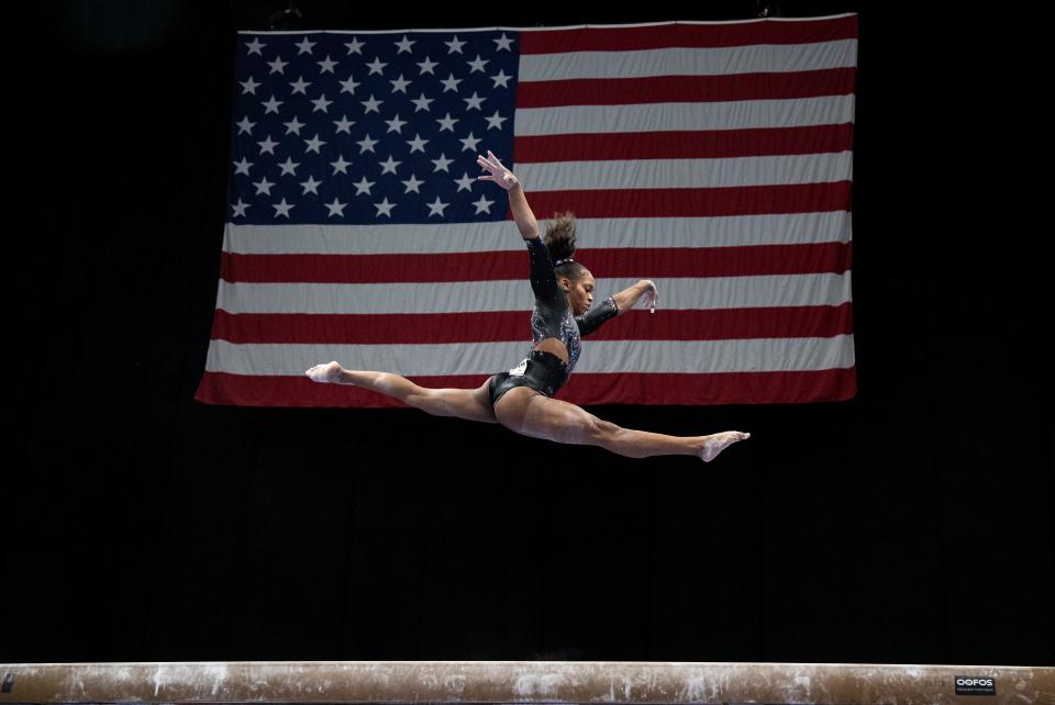
[[[673,47],[636,52],[521,54],[519,83],[576,79],[653,78],[790,74],[853,68],[857,40],[811,44],[748,44],[707,48]],[[793,77],[780,77],[781,81]]]

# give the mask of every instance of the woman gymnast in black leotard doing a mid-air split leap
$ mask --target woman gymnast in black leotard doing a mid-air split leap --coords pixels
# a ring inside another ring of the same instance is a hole
[[[573,259],[574,216],[566,214],[552,221],[543,243],[520,181],[498,157],[490,152],[487,155],[479,156],[477,164],[490,174],[478,178],[509,191],[513,220],[528,245],[531,288],[535,292],[530,355],[475,390],[427,389],[391,372],[346,370],[336,361],[316,365],[306,374],[316,382],[355,384],[395,396],[436,416],[498,423],[525,436],[600,446],[630,458],[682,455],[710,461],[730,444],[748,438],[749,434],[736,430],[710,436],[667,436],[621,428],[575,404],[554,399],[578,361],[579,336],[589,335],[606,321],[630,311],[638,299],[655,306],[658,293],[653,282],[644,280],[591,309],[593,276]]]

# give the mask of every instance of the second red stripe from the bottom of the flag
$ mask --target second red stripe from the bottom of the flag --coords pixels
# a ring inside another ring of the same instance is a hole
[[[660,293],[662,296],[662,293]],[[662,303],[660,299],[660,303]],[[528,311],[435,314],[229,313],[218,309],[212,338],[247,344],[438,345],[529,340]],[[587,340],[731,340],[826,338],[854,332],[853,304],[768,309],[638,309],[609,321]],[[588,345],[588,343],[587,343]]]

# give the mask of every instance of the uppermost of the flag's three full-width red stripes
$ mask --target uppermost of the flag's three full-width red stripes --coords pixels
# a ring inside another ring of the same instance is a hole
[[[595,277],[756,277],[842,273],[846,243],[752,247],[655,247],[580,249],[576,260]],[[253,283],[393,283],[523,279],[521,251],[466,255],[238,255],[224,251],[220,277]]]

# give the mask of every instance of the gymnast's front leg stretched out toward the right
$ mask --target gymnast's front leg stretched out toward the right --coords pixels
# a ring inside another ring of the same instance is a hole
[[[557,443],[600,446],[628,458],[697,456],[704,461],[751,434],[728,430],[710,436],[667,436],[621,428],[575,404],[528,387],[511,389],[495,404],[498,422],[519,434]]]

